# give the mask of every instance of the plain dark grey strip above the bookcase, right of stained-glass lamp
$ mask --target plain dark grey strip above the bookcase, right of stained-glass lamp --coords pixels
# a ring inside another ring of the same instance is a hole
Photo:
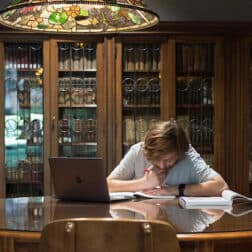
[[[161,21],[251,22],[252,0],[144,0]]]

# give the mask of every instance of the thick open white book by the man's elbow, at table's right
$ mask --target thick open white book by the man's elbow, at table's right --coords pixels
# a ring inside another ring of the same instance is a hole
[[[220,208],[232,209],[233,201],[251,202],[252,198],[234,192],[224,190],[221,197],[180,197],[179,204],[183,208]]]

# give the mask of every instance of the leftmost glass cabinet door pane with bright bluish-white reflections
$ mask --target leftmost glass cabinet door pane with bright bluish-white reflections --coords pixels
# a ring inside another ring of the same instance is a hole
[[[5,43],[6,195],[43,195],[41,43]]]

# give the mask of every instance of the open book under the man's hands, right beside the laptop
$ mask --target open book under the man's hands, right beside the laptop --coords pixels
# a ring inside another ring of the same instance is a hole
[[[110,197],[125,197],[127,199],[148,198],[148,199],[174,199],[173,195],[148,194],[144,192],[111,192]]]

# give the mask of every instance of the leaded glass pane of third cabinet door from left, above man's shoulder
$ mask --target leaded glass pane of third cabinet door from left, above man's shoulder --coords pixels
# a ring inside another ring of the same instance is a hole
[[[122,155],[160,119],[160,44],[122,48]]]

